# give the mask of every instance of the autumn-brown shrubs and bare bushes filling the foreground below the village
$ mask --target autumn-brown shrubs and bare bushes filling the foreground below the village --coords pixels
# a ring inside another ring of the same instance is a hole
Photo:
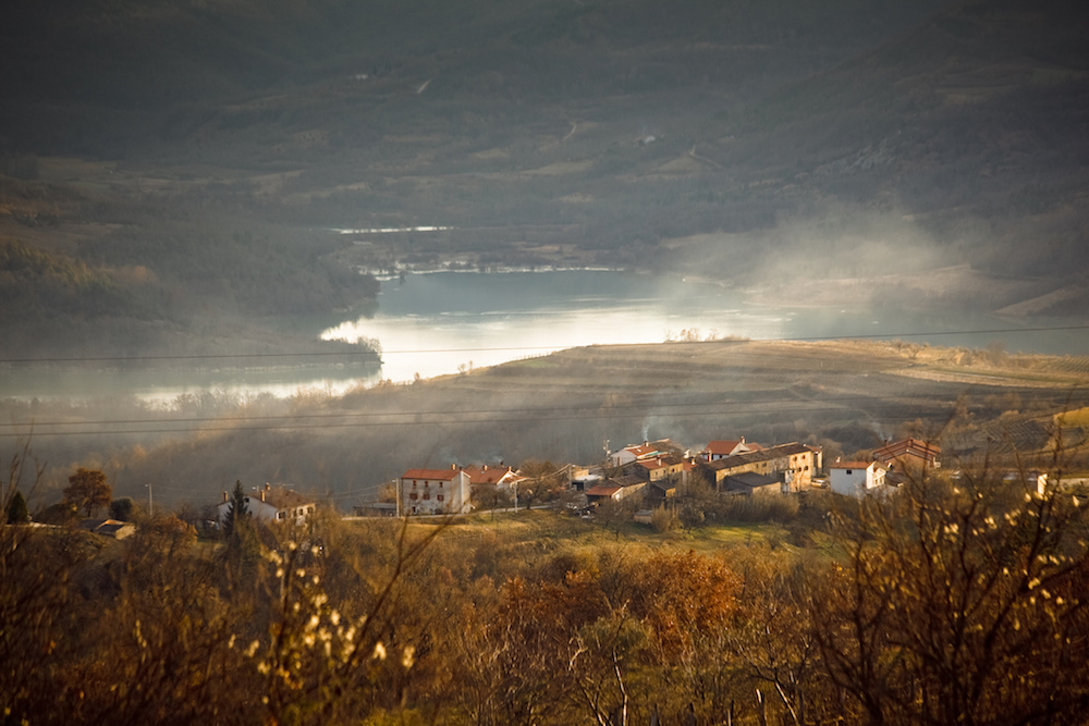
[[[0,702],[32,724],[1082,723],[1089,520],[1004,470],[810,493],[793,544],[713,553],[544,513],[529,536],[4,526]]]

